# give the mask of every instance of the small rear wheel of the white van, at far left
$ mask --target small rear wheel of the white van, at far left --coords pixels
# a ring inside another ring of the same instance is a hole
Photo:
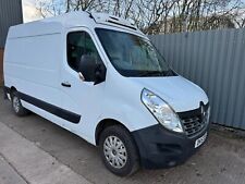
[[[11,100],[12,100],[12,109],[16,115],[24,116],[28,114],[28,110],[22,106],[17,91],[13,91],[11,94]]]

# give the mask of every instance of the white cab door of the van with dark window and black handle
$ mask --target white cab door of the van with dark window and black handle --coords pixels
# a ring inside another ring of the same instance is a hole
[[[71,112],[64,126],[70,131],[88,136],[90,123],[95,123],[101,113],[101,101],[105,90],[105,82],[95,85],[95,72],[87,69],[84,79],[79,75],[79,62],[89,56],[91,64],[102,64],[95,40],[87,28],[70,30],[66,34],[65,62],[61,69],[61,100],[62,109]],[[78,126],[79,125],[79,126]],[[77,127],[78,126],[78,127]]]

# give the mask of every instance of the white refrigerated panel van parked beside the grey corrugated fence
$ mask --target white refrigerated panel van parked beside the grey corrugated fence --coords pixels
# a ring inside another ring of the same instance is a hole
[[[98,146],[118,175],[180,164],[208,135],[204,90],[117,16],[75,12],[11,27],[4,85],[17,115],[33,111]]]

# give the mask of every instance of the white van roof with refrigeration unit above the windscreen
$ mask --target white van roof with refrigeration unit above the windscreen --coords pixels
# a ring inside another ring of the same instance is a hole
[[[81,11],[12,26],[10,27],[8,38],[57,34],[61,33],[63,28],[78,26],[96,27],[98,25],[114,26],[143,35],[137,27],[124,19],[106,13]]]

